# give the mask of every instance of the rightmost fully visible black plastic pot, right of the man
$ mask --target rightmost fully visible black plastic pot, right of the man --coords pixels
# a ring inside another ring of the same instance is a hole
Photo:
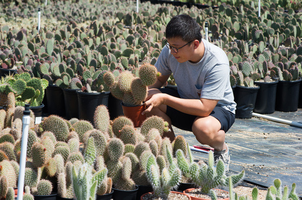
[[[296,81],[279,81],[277,84],[277,111],[295,112],[298,110],[299,87],[301,78]]]

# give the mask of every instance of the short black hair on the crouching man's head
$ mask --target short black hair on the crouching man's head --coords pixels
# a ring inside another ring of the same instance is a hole
[[[179,37],[185,42],[198,40],[201,42],[199,24],[189,15],[178,15],[173,17],[166,27],[166,38]]]

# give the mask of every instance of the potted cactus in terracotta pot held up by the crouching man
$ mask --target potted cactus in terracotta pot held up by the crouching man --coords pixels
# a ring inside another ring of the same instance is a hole
[[[115,98],[122,100],[124,115],[134,122],[135,127],[139,127],[145,119],[141,112],[144,110],[147,86],[156,82],[159,72],[155,66],[145,63],[138,68],[138,75],[139,78],[129,71],[122,72],[117,78],[112,72],[104,74],[105,84]]]

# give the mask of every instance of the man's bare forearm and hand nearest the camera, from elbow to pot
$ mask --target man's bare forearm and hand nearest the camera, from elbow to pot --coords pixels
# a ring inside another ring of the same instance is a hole
[[[155,94],[144,104],[146,109],[144,113],[150,112],[153,108],[159,107],[161,104],[168,105],[181,112],[196,115],[199,117],[206,117],[213,111],[219,100],[214,99],[181,99],[170,96],[168,94]]]

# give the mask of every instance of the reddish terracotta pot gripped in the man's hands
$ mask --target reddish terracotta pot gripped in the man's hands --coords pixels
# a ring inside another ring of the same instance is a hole
[[[141,104],[139,106],[124,106],[123,103],[121,104],[124,115],[133,121],[134,127],[140,127],[141,123],[146,119],[145,114],[141,115],[141,112],[145,109],[145,105]]]

